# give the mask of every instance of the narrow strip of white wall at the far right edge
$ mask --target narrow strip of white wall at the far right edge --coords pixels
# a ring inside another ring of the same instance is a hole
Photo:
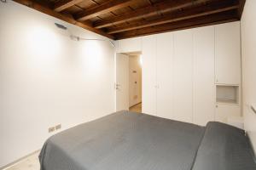
[[[243,83],[243,114],[245,129],[256,150],[256,1],[247,0],[241,19],[241,58]]]

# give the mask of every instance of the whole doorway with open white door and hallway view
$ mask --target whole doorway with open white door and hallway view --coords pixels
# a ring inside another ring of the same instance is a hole
[[[116,55],[116,111],[142,112],[142,56]]]

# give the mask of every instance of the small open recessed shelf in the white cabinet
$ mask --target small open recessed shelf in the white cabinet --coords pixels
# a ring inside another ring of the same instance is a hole
[[[239,105],[239,86],[217,85],[216,102],[219,104]]]

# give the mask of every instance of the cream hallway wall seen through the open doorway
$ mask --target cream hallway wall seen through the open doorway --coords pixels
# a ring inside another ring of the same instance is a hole
[[[142,102],[142,66],[140,56],[131,55],[129,56],[129,106],[140,102]]]

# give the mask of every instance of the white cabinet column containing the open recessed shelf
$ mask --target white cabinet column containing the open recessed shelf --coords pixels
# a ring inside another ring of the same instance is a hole
[[[240,22],[215,26],[215,121],[227,122],[241,116],[241,38]]]

